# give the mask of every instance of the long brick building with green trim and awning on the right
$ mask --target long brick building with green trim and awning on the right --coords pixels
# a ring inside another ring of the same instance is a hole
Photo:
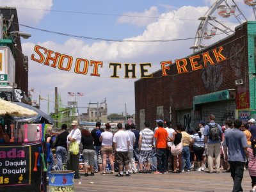
[[[188,56],[186,68],[178,71],[173,61],[167,76],[161,69],[136,81],[136,124],[143,129],[145,120],[155,127],[156,119],[171,119],[173,126],[180,123],[191,130],[211,113],[221,125],[227,119],[255,117],[255,46],[256,22],[246,22],[233,35]],[[225,60],[214,56],[214,49]],[[192,70],[191,58],[198,61],[197,70]]]

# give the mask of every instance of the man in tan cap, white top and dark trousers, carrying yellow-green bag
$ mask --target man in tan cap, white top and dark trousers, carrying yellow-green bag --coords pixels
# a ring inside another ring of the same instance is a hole
[[[71,144],[71,142],[77,142],[78,145],[81,143],[81,131],[77,128],[77,121],[72,121],[72,131],[70,131],[70,134],[67,136],[67,144],[68,146]],[[73,155],[70,154],[68,150],[67,154],[67,170],[73,170],[75,172],[75,179],[79,179],[79,155]]]

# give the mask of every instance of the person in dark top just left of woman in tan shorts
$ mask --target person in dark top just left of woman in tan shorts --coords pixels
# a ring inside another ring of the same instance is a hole
[[[101,154],[100,154],[101,142],[99,139],[100,139],[100,134],[103,131],[100,129],[100,125],[101,125],[100,122],[96,122],[96,127],[91,132],[93,141],[94,141],[93,145],[95,148],[95,156],[94,156],[95,173],[98,173],[98,163],[99,163],[100,172],[102,172],[102,162],[99,162],[99,160],[100,160],[99,155],[101,157]],[[102,161],[102,158],[101,158],[101,161]]]

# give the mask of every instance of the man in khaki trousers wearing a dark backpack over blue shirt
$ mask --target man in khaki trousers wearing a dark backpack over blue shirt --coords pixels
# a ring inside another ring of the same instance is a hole
[[[204,143],[208,150],[208,170],[213,171],[213,156],[215,155],[216,173],[220,173],[220,142],[221,126],[216,124],[215,116],[209,115],[209,123],[204,127]]]

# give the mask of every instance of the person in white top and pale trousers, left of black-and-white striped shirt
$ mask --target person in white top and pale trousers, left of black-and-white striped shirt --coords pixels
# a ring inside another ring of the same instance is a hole
[[[134,132],[130,131],[131,129],[131,125],[129,124],[125,124],[125,132],[127,132],[129,134],[129,138],[130,138],[130,147],[129,147],[129,154],[128,154],[128,158],[129,158],[129,170],[128,172],[132,174],[133,173],[137,173],[138,170],[136,168],[136,164],[135,164],[135,159],[133,156],[133,148],[134,148],[134,143],[135,143],[135,134]]]

